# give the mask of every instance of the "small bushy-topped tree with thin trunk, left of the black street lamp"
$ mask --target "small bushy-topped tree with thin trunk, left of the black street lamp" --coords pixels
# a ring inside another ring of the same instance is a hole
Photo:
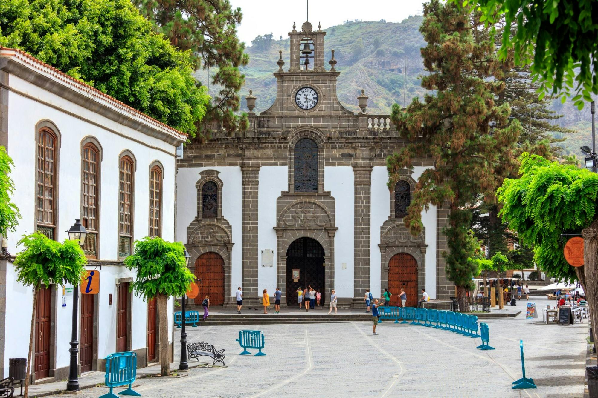
[[[60,243],[48,239],[40,232],[24,236],[18,244],[22,244],[25,250],[17,254],[14,259],[17,282],[33,287],[33,308],[31,311],[28,351],[28,358],[31,358],[38,290],[42,286],[50,287],[54,285],[57,288],[67,284],[77,288],[85,274],[84,266],[87,264],[87,258],[78,241],[65,240],[64,243]],[[28,396],[30,369],[31,364],[29,363],[25,378],[25,396]]]

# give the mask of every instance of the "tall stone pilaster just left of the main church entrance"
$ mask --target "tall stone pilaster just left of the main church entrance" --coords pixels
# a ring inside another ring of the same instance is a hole
[[[241,167],[243,173],[243,300],[258,301],[258,183],[260,167]],[[235,287],[236,290],[236,287]]]

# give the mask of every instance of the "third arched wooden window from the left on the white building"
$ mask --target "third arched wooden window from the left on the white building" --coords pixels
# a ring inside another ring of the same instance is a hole
[[[133,241],[133,193],[135,163],[129,155],[119,160],[118,177],[118,257],[131,255]]]

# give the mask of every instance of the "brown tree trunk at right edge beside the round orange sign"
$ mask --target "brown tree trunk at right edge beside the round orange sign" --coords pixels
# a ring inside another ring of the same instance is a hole
[[[598,221],[584,228],[581,235],[584,237],[584,266],[575,267],[575,273],[588,301],[592,333],[598,336]]]

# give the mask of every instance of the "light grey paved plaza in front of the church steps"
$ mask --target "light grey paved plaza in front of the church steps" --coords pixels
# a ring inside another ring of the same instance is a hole
[[[486,320],[496,348],[488,351],[475,348],[479,338],[393,322],[380,324],[377,336],[365,322],[191,327],[190,341],[225,348],[227,368],[140,379],[135,390],[144,397],[581,397],[587,323],[546,325],[541,314],[526,320],[525,301],[518,304],[523,311],[515,319]],[[264,332],[267,356],[238,355],[241,328]],[[521,377],[520,339],[536,390],[511,389]],[[107,391],[95,387],[80,396]]]

